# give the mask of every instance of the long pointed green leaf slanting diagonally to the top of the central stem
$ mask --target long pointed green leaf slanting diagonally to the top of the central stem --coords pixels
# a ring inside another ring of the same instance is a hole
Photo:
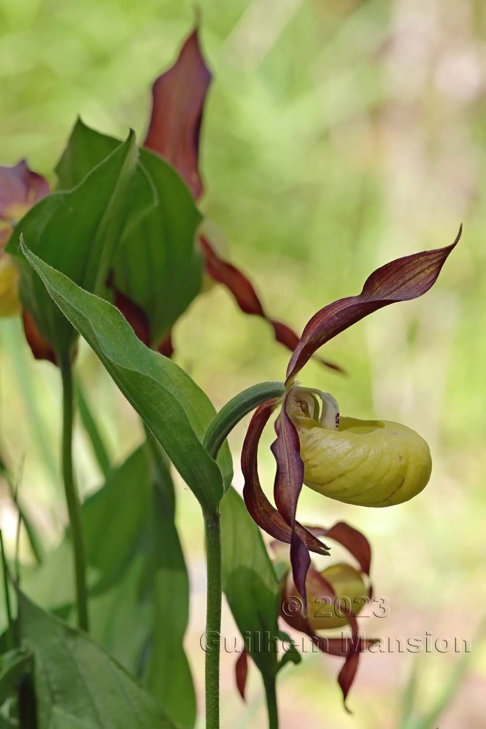
[[[144,346],[122,314],[43,262],[22,250],[44,281],[52,299],[87,340],[111,377],[157,438],[203,508],[213,510],[230,477],[231,457],[222,449],[219,464],[201,440],[214,416],[208,397],[167,357]]]

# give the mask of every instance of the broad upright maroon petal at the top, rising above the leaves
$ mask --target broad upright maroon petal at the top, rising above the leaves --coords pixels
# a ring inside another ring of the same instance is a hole
[[[198,169],[199,138],[211,72],[192,31],[176,63],[154,82],[152,116],[144,146],[176,168],[195,199],[203,192]]]

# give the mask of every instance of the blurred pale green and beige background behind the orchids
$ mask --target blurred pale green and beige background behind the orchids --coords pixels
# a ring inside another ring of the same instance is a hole
[[[464,223],[463,240],[426,297],[380,311],[326,346],[325,356],[348,377],[314,363],[301,375],[302,383],[332,391],[345,415],[417,429],[431,446],[430,484],[385,510],[305,489],[299,517],[329,526],[345,518],[372,541],[375,594],[391,610],[384,619],[364,617],[367,635],[469,636],[465,676],[452,690],[464,658],[453,651],[365,655],[350,697],[355,717],[348,717],[335,684],[339,662],[310,654],[281,676],[281,726],[483,727],[486,4],[201,0],[199,10],[214,72],[202,133],[202,208],[272,316],[302,330],[321,306],[358,293],[377,265],[447,245]],[[185,0],[0,0],[1,163],[27,157],[50,174],[77,114],[118,136],[131,126],[143,139],[152,80],[173,62],[193,20]],[[270,327],[240,313],[223,289],[198,298],[174,338],[176,361],[216,408],[252,383],[284,376],[288,355]],[[34,363],[15,320],[0,322],[0,356],[1,449],[45,544],[54,546],[66,523],[58,373]],[[85,346],[78,367],[121,462],[141,441],[137,418]],[[245,425],[231,437],[237,488]],[[271,440],[268,432],[262,445]],[[81,429],[76,450],[87,494],[101,475]],[[264,447],[261,462],[271,493],[273,457]],[[12,546],[16,515],[3,483],[0,499]],[[192,584],[186,645],[202,703],[203,529],[182,484],[178,521]],[[67,568],[60,579],[70,579]],[[228,610],[223,632],[235,635]],[[223,726],[263,726],[256,670],[245,706],[234,660],[223,655]],[[416,723],[415,714],[448,694],[440,719]]]

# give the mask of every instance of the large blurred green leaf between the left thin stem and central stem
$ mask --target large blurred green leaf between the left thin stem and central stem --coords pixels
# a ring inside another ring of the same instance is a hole
[[[87,559],[98,574],[95,590],[103,590],[90,615],[110,654],[133,671],[141,667],[167,714],[191,729],[195,691],[183,646],[189,579],[172,491],[168,467],[146,444],[83,504]]]

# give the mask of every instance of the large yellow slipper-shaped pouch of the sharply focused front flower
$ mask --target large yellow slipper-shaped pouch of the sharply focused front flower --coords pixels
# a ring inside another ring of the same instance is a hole
[[[414,430],[390,421],[340,418],[328,394],[293,390],[287,412],[299,434],[306,486],[331,499],[369,507],[402,504],[426,487],[431,453]],[[304,399],[310,394],[323,402],[321,421]]]

